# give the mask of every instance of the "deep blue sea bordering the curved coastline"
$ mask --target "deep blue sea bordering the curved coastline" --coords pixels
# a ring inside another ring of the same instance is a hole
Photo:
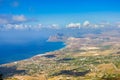
[[[28,43],[0,44],[0,64],[30,58],[32,56],[58,50],[65,45],[62,42],[47,42],[47,39],[39,39]]]

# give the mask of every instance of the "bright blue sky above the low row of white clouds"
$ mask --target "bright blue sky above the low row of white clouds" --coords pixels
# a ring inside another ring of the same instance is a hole
[[[0,24],[120,21],[120,0],[0,0]]]

